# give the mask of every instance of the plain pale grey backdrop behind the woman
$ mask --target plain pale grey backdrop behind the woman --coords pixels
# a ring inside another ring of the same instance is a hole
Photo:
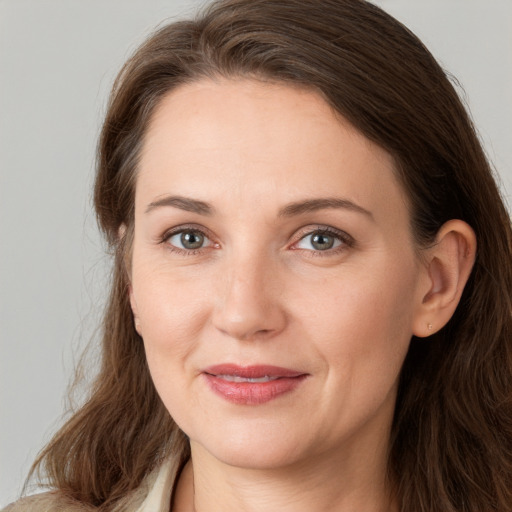
[[[95,339],[109,258],[90,188],[108,90],[157,24],[200,3],[0,0],[0,507],[60,424],[74,365]],[[509,198],[512,2],[375,3],[458,78]]]

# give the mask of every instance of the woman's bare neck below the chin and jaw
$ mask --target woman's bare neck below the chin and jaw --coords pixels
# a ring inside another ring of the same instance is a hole
[[[173,512],[392,512],[386,454],[323,454],[307,464],[247,469],[192,443]],[[381,455],[383,457],[381,457]],[[380,461],[378,460],[380,459]]]

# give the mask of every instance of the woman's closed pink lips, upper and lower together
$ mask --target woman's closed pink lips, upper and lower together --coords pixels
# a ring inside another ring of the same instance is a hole
[[[220,364],[203,371],[212,391],[229,402],[257,405],[293,391],[307,373],[278,366]]]

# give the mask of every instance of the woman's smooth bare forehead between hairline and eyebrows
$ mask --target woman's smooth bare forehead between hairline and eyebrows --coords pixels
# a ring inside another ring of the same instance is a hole
[[[167,94],[137,182],[145,201],[179,193],[286,203],[343,193],[368,206],[404,203],[392,157],[320,94],[254,80],[203,80]]]

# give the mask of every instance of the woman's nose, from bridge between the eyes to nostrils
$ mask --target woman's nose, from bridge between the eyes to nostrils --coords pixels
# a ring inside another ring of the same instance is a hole
[[[269,339],[287,322],[283,286],[275,261],[243,255],[226,262],[213,324],[238,340]]]

